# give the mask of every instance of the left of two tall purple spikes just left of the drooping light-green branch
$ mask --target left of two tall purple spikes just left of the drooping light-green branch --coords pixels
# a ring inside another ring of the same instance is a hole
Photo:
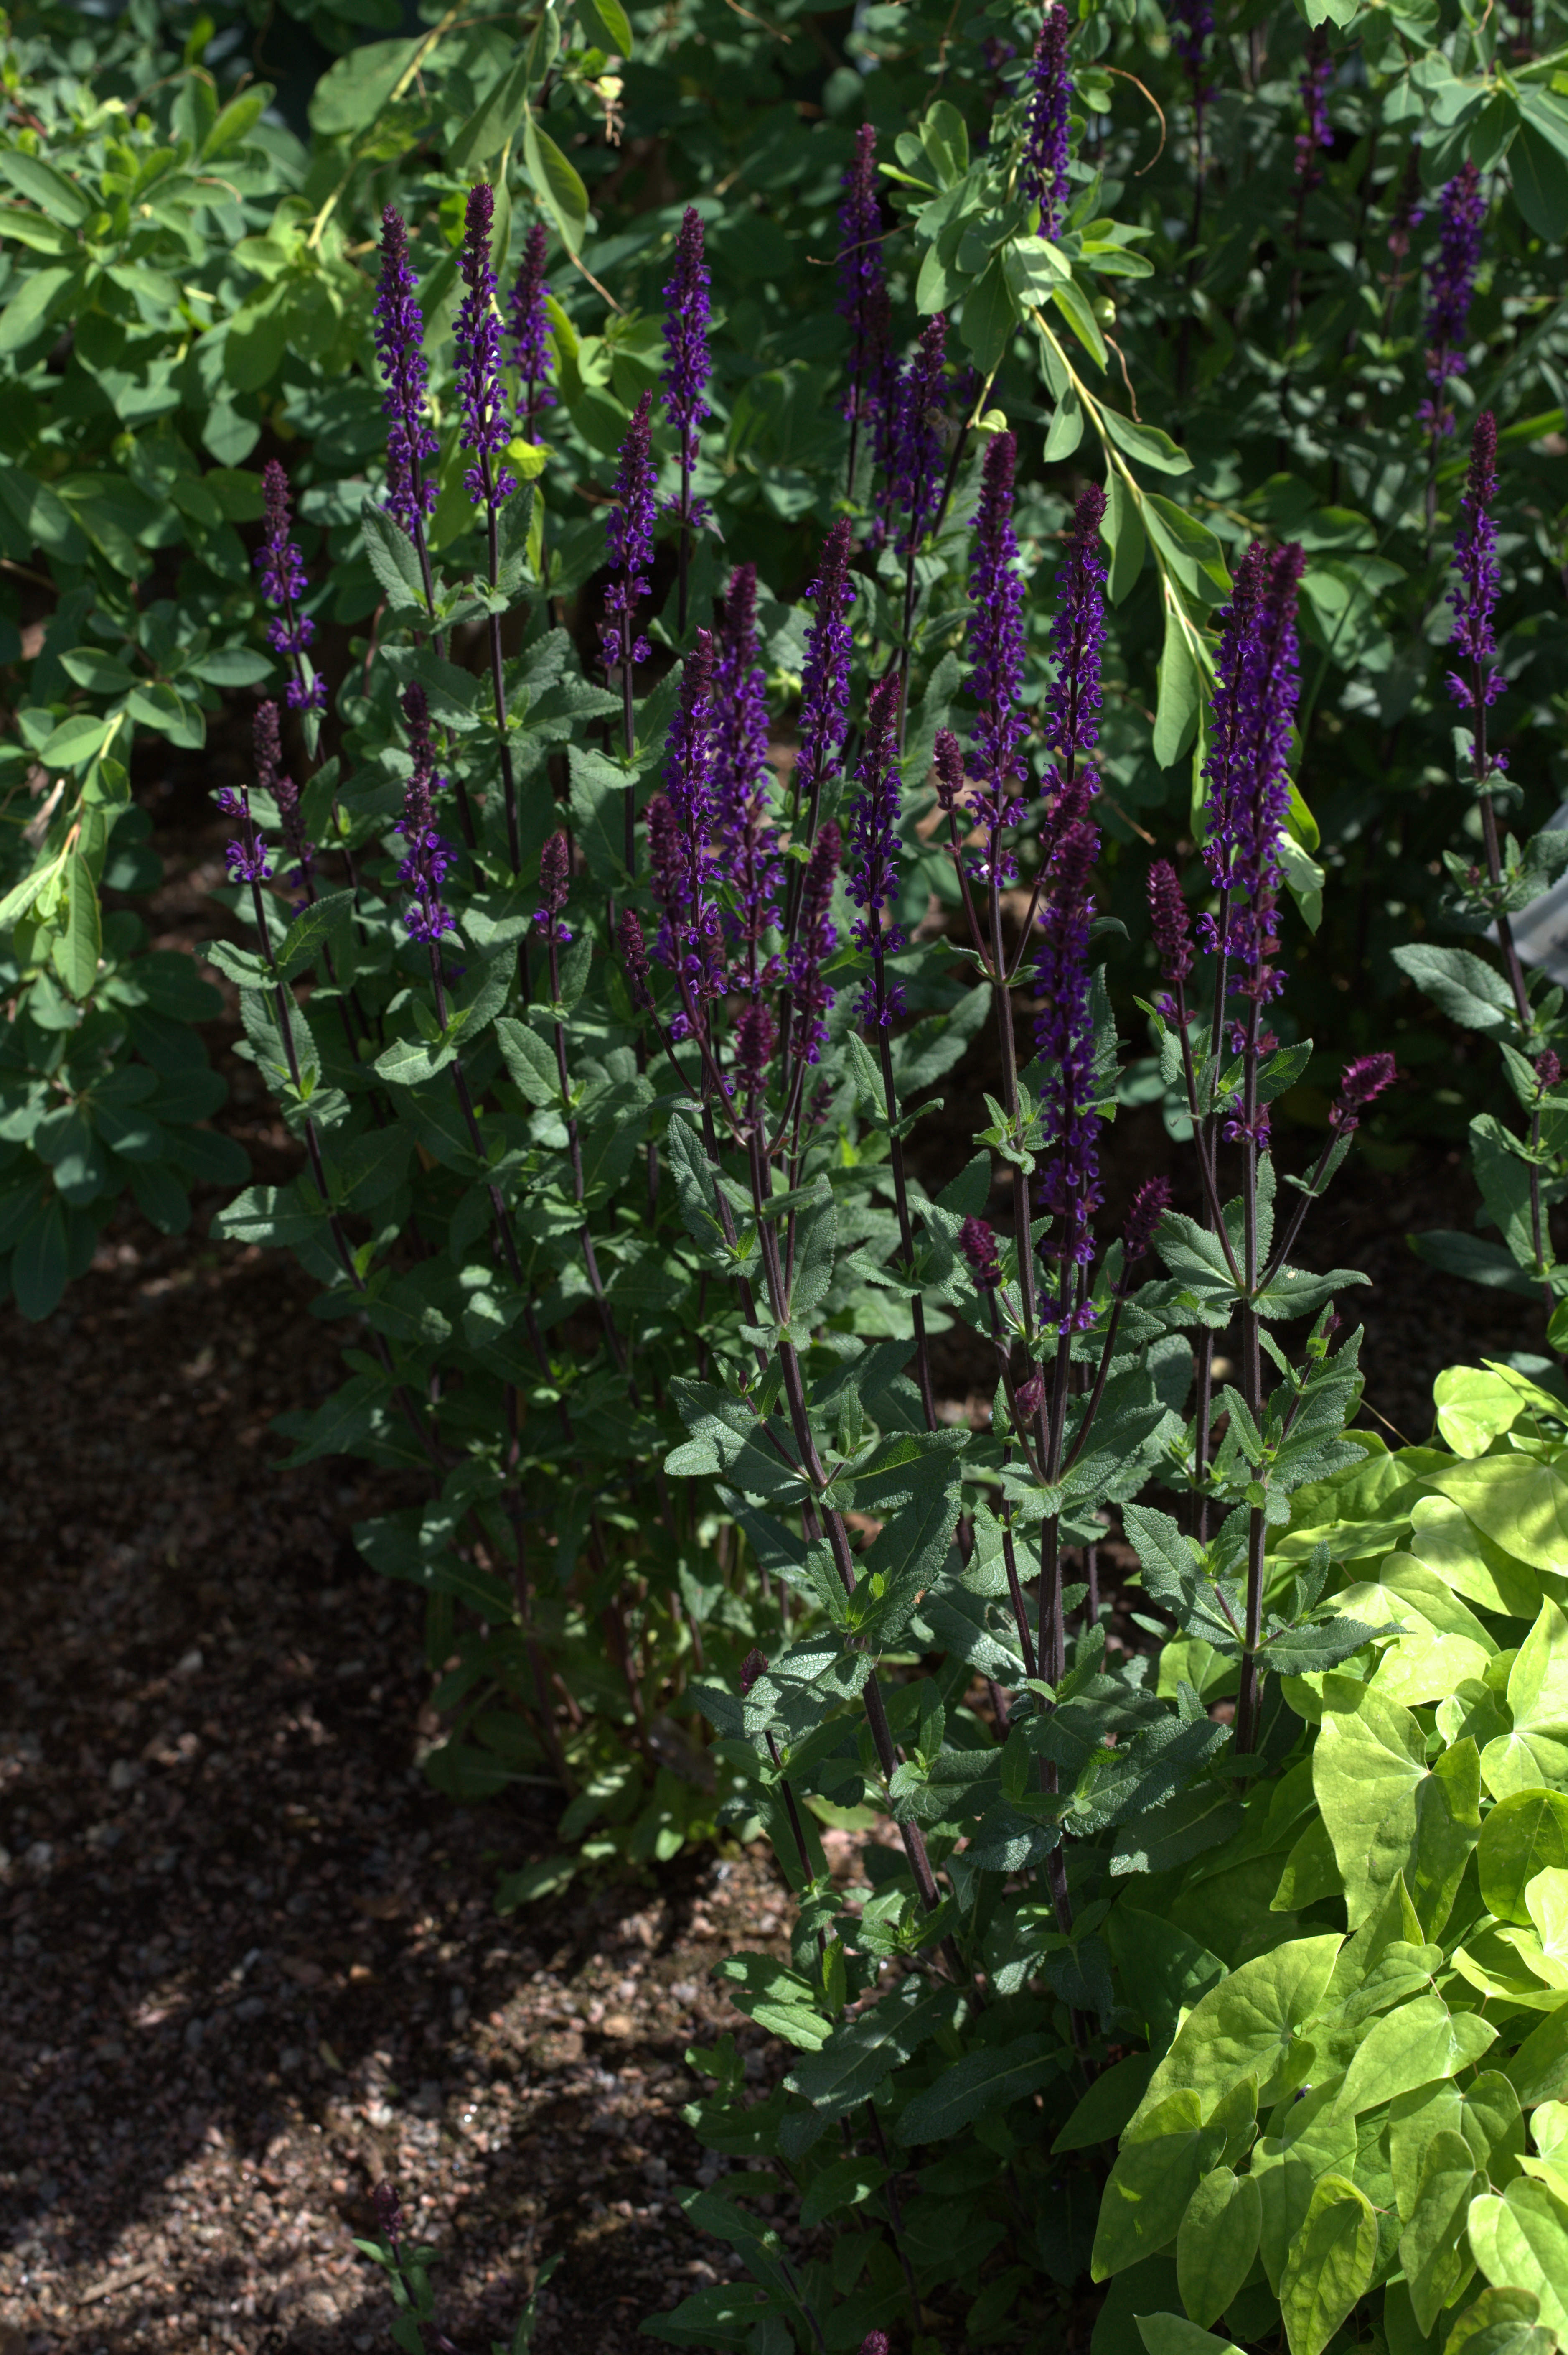
[[[970,695],[979,718],[970,735],[970,775],[979,782],[975,824],[986,843],[970,860],[982,881],[1005,885],[1017,874],[1017,860],[1003,850],[1001,836],[1024,815],[1019,798],[1029,784],[1024,742],[1029,721],[1019,711],[1024,690],[1024,582],[1017,570],[1017,535],[1012,530],[1012,469],[1017,443],[996,433],[986,450],[975,516],[975,568],[970,572]]]

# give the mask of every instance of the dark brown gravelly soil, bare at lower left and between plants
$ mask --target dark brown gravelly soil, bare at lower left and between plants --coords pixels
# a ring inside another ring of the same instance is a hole
[[[167,942],[214,921],[217,843],[186,843]],[[228,1126],[280,1175],[228,1046]],[[956,1156],[982,1083],[982,1060],[949,1083]],[[1156,1116],[1123,1116],[1111,1208],[1163,1163]],[[1526,1302],[1403,1246],[1471,1201],[1457,1156],[1363,1161],[1309,1232],[1304,1258],[1375,1279],[1368,1401],[1410,1439],[1443,1364],[1540,1347]],[[549,2254],[537,2346],[631,2348],[727,2258],[669,2197],[713,2169],[683,2054],[720,2023],[713,1959],[779,1936],[779,1891],[758,1858],[695,1856],[497,1919],[551,1795],[428,1790],[421,1601],[348,1540],[386,1486],[280,1472],[268,1439],[334,1385],[332,1328],[290,1267],[207,1243],[210,1210],[177,1241],[111,1229],[45,1328],[0,1316],[0,2355],[386,2346],[351,2247],[381,2176],[443,2249],[464,2350]],[[970,1356],[942,1364],[961,1399]]]

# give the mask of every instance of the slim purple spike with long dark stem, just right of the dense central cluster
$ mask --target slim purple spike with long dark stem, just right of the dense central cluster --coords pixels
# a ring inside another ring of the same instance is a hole
[[[871,1031],[883,1072],[883,1109],[888,1116],[888,1159],[892,1166],[892,1201],[899,1220],[899,1248],[904,1279],[911,1288],[909,1312],[913,1319],[916,1375],[921,1385],[921,1408],[925,1427],[937,1427],[937,1401],[930,1380],[930,1349],[925,1342],[925,1305],[916,1286],[913,1225],[909,1218],[909,1185],[904,1178],[904,1140],[899,1137],[899,1100],[892,1083],[892,1041],[888,1024],[904,1013],[904,991],[888,977],[888,958],[904,947],[897,923],[883,926],[883,909],[897,895],[897,822],[902,812],[902,782],[897,768],[897,697],[892,676],[878,678],[871,688],[866,711],[866,747],[857,770],[859,791],[850,805],[850,900],[859,909],[855,921],[855,944],[871,954],[871,980],[855,1001],[855,1013]]]

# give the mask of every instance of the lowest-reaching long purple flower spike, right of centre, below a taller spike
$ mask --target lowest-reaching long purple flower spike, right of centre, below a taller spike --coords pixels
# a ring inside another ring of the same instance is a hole
[[[1099,831],[1076,817],[1057,838],[1041,921],[1036,987],[1041,1013],[1034,1039],[1050,1067],[1041,1090],[1045,1175],[1041,1208],[1057,1220],[1050,1253],[1059,1262],[1057,1331],[1081,1333],[1095,1309],[1074,1300],[1071,1269],[1092,1253],[1090,1215],[1099,1206],[1099,1114],[1095,1109],[1095,1024],[1090,1017],[1088,937],[1095,902],[1090,876]]]

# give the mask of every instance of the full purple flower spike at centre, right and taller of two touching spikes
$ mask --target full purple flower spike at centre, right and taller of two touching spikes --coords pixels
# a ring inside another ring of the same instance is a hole
[[[779,923],[779,829],[772,820],[768,761],[768,676],[756,643],[756,565],[737,565],[718,624],[713,662],[713,848],[730,883],[735,916],[725,926],[742,951],[746,987],[758,989],[758,942]]]

